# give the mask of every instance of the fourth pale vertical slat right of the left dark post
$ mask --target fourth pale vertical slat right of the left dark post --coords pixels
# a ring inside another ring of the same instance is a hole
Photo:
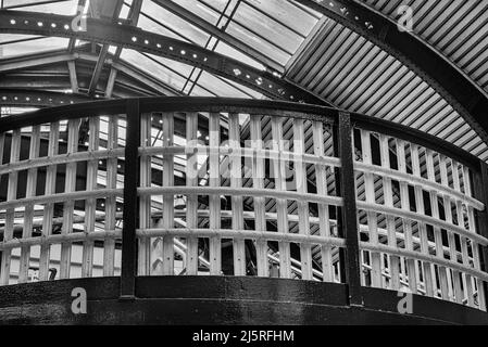
[[[210,187],[218,188],[221,185],[220,175],[220,155],[218,147],[221,145],[221,115],[218,113],[210,113],[209,118],[209,144],[212,149],[209,156],[209,183]],[[210,229],[221,229],[221,197],[218,194],[211,194],[210,202]],[[210,274],[221,274],[222,261],[222,246],[221,237],[212,236],[210,243]]]

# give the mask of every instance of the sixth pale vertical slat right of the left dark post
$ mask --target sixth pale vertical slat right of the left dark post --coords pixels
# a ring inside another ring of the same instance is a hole
[[[264,159],[259,154],[259,151],[263,149],[263,141],[261,136],[261,116],[251,115],[250,119],[251,129],[251,146],[256,151],[252,157],[252,187],[254,189],[264,188]],[[266,231],[265,219],[265,204],[264,197],[254,197],[254,227],[256,231]],[[256,262],[258,262],[258,275],[268,275],[268,262],[267,262],[267,242],[266,240],[256,240]]]

